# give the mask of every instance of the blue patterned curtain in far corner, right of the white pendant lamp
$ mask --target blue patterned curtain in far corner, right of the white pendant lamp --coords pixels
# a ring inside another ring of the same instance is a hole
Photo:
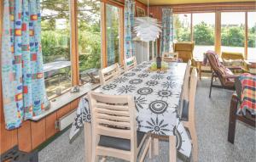
[[[173,42],[172,8],[162,8],[160,54],[170,52]]]

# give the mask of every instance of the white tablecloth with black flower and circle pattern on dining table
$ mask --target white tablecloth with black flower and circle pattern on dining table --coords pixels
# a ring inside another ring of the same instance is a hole
[[[191,142],[177,114],[186,64],[170,63],[169,69],[163,72],[148,70],[151,63],[138,64],[136,68],[126,71],[95,91],[134,96],[137,130],[164,136],[176,135],[177,151],[189,157]],[[83,127],[84,121],[90,122],[87,98],[80,100],[70,139]]]

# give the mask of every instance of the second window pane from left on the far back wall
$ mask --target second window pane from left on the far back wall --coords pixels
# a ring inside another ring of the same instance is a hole
[[[202,58],[207,50],[214,50],[215,14],[201,13],[193,16],[194,57]]]

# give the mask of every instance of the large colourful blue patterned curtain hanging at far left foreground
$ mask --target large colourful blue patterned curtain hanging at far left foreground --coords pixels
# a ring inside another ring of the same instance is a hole
[[[40,115],[46,98],[41,53],[40,0],[4,0],[3,112],[7,129]]]

